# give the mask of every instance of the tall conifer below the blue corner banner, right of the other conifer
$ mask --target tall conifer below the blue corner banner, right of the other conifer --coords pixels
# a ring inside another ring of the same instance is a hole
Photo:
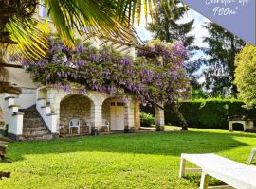
[[[205,50],[209,58],[205,60],[208,68],[204,72],[204,85],[212,96],[235,95],[235,56],[246,43],[214,23],[206,24],[205,28],[209,31],[209,36],[204,39],[209,44],[209,48]]]

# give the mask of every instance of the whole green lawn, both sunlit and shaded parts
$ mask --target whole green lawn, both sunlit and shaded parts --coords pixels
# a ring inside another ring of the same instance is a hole
[[[199,175],[177,177],[182,152],[214,152],[247,163],[255,146],[256,134],[209,129],[13,143],[13,163],[0,164],[11,178],[0,180],[0,188],[192,189]]]

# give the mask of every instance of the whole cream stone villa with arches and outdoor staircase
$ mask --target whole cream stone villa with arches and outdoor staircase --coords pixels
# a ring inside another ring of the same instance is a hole
[[[40,5],[37,19],[44,20],[46,9]],[[49,23],[51,30],[54,27]],[[86,39],[88,40],[88,39]],[[92,37],[95,46],[112,45],[123,54],[136,57],[136,49]],[[136,43],[140,43],[135,38]],[[111,96],[95,91],[77,93],[38,86],[19,65],[8,68],[9,82],[21,88],[22,94],[0,94],[4,128],[10,138],[47,140],[66,135],[87,135],[98,132],[134,132],[140,128],[140,103],[133,97]],[[155,107],[156,124],[164,125],[164,112]]]

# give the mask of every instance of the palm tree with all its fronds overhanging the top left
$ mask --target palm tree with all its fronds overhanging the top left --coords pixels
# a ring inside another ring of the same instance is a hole
[[[28,60],[45,55],[48,46],[48,29],[33,19],[36,7],[41,0],[0,0],[0,55],[22,54]],[[58,34],[72,46],[75,31],[81,36],[97,33],[119,41],[129,42],[134,38],[133,24],[139,24],[141,12],[144,15],[157,13],[161,3],[166,12],[172,14],[176,8],[173,0],[45,0],[48,17],[51,18]],[[142,11],[144,10],[144,11]],[[46,19],[47,23],[47,19]],[[3,60],[7,60],[5,56]],[[0,66],[0,77],[6,73]],[[1,80],[0,80],[1,81]],[[2,86],[9,84],[2,80]],[[5,83],[4,83],[5,82]],[[9,86],[11,89],[11,86]],[[2,87],[2,92],[7,88]],[[1,90],[0,90],[1,93]]]

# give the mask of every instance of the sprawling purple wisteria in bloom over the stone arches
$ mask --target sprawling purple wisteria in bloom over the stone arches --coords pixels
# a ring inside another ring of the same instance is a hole
[[[23,64],[33,81],[64,91],[130,94],[143,103],[165,103],[189,94],[185,57],[182,43],[149,43],[133,60],[109,46],[78,43],[70,49],[55,39],[45,59]]]

